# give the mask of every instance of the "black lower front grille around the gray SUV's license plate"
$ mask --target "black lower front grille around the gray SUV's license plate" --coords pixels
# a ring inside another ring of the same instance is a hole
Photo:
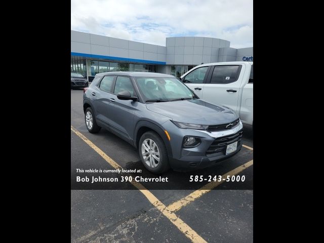
[[[224,136],[221,138],[216,138],[212,143],[212,145],[207,149],[206,154],[223,153],[225,155],[227,145],[234,143],[236,141],[237,141],[237,147],[240,145],[242,141],[242,134],[243,134],[243,130],[240,130],[235,134]]]

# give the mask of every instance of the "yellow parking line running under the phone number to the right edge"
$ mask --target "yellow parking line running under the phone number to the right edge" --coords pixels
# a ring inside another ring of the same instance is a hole
[[[250,160],[249,162],[245,163],[244,165],[241,165],[241,166],[235,168],[234,170],[231,170],[230,172],[222,175],[222,178],[227,178],[227,176],[236,175],[236,174],[244,171],[245,169],[247,169],[248,167],[250,167],[252,165],[253,165],[253,159]],[[206,194],[207,192],[211,191],[216,186],[219,186],[223,182],[225,182],[225,181],[223,181],[223,180],[222,181],[212,181],[212,182],[206,184],[205,186],[200,187],[200,189],[190,193],[186,197],[183,197],[180,200],[175,201],[173,204],[168,206],[168,209],[171,210],[171,212],[176,212],[179,209],[181,209],[182,207],[190,204],[195,199],[197,199],[200,196],[202,196],[202,195]]]

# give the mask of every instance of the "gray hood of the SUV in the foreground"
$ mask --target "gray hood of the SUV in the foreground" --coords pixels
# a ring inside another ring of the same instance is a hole
[[[232,109],[200,99],[155,102],[146,104],[146,108],[180,123],[219,125],[238,118]]]

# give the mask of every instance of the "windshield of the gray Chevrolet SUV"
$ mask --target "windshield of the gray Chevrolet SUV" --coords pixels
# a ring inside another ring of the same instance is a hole
[[[192,99],[187,86],[173,77],[135,77],[145,101],[172,101]]]

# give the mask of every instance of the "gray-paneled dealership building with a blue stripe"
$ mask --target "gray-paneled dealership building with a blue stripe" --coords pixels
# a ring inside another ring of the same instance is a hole
[[[166,46],[71,30],[71,72],[91,82],[99,72],[182,74],[201,63],[253,61],[253,47],[235,49],[225,39],[167,37]]]

